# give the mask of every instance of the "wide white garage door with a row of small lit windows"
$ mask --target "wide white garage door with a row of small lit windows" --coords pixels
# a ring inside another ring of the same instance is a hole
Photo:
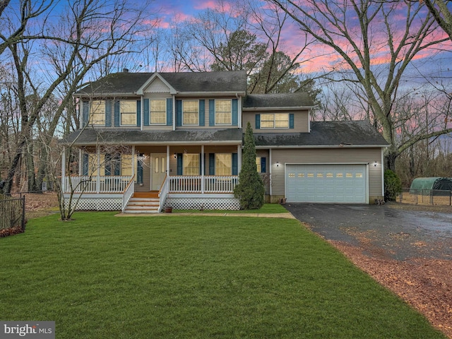
[[[365,203],[366,165],[286,165],[287,202]]]

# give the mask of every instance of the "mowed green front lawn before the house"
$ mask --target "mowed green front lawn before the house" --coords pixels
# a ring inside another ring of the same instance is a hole
[[[445,338],[296,220],[74,218],[0,239],[0,319],[59,339]]]

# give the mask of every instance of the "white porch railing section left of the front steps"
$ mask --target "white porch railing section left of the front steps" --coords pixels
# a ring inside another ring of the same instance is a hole
[[[71,192],[71,180],[74,193],[123,193],[131,179],[122,175],[64,177],[64,188],[66,193]]]

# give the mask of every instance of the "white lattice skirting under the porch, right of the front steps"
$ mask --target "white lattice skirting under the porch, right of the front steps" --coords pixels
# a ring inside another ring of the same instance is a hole
[[[163,207],[176,210],[239,210],[236,198],[167,198]]]

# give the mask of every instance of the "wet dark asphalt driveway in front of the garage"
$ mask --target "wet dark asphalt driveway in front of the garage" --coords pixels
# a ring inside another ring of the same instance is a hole
[[[370,256],[452,258],[452,213],[389,205],[287,203],[285,208],[321,237],[360,246]]]

